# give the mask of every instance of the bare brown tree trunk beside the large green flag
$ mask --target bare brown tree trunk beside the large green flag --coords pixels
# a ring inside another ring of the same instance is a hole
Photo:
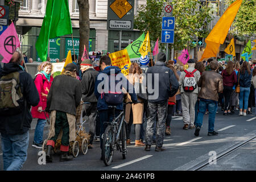
[[[89,18],[89,1],[77,0],[79,5],[79,65],[81,64],[82,53],[84,52],[84,45],[86,50],[89,50],[89,36],[90,36],[90,18]]]

